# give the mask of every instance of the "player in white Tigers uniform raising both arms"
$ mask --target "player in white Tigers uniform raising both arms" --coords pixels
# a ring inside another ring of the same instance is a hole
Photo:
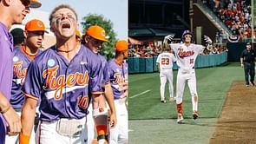
[[[164,39],[164,44],[167,44],[168,40],[172,40],[174,35],[168,35]],[[170,43],[169,46],[174,50],[174,54],[177,60],[178,74],[176,84],[176,105],[178,112],[177,122],[181,123],[183,120],[182,111],[182,98],[184,93],[185,84],[187,82],[192,99],[192,109],[194,120],[198,118],[198,94],[196,90],[196,78],[194,70],[194,62],[196,57],[203,52],[206,48],[199,44],[194,44],[193,34],[189,30],[185,30],[182,34],[181,41],[183,43]],[[208,36],[204,36],[204,39],[208,43],[207,49],[210,48],[212,40]]]

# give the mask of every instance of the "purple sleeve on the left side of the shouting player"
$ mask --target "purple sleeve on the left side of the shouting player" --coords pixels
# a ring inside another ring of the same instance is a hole
[[[43,79],[38,66],[35,61],[30,63],[25,82],[23,83],[23,92],[25,95],[36,100],[39,99],[43,86]]]

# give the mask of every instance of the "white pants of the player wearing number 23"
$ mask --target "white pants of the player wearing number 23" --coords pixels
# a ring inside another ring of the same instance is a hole
[[[174,84],[173,84],[173,69],[161,70],[160,72],[160,94],[161,99],[165,98],[165,86],[166,82],[169,84],[169,95],[174,97]]]

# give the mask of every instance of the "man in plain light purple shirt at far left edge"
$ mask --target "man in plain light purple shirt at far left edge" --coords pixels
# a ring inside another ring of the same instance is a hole
[[[9,101],[13,75],[13,37],[9,29],[22,23],[28,13],[30,0],[0,0],[0,144],[5,143],[6,134],[16,135],[21,130],[20,118]]]

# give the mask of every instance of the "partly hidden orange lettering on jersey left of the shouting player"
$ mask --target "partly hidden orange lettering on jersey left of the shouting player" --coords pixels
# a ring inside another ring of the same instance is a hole
[[[21,84],[23,84],[24,79],[26,77],[28,68],[23,69],[23,62],[14,62],[13,63],[13,77],[17,77],[17,79],[22,79]]]

